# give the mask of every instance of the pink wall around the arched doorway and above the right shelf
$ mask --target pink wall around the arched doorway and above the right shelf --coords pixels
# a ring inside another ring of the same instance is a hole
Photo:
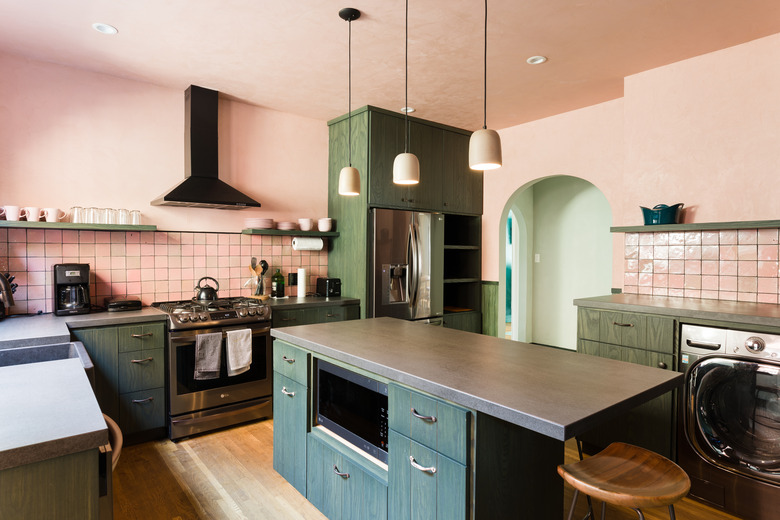
[[[485,174],[483,278],[497,280],[501,211],[524,185],[592,182],[613,225],[639,206],[685,203],[685,222],[777,219],[780,35],[626,78],[624,97],[501,131],[504,166]],[[622,234],[613,280],[624,281]]]

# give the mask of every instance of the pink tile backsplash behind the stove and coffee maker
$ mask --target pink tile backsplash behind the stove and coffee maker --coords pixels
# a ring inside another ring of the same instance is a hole
[[[192,298],[203,276],[219,281],[219,296],[249,296],[251,257],[269,264],[270,276],[307,270],[308,290],[328,274],[327,246],[294,251],[292,237],[174,231],[0,229],[0,271],[16,275],[14,314],[52,311],[52,265],[90,265],[92,303],[106,296],[140,296],[144,305]],[[270,280],[269,280],[270,283]],[[297,287],[288,288],[297,295]]]

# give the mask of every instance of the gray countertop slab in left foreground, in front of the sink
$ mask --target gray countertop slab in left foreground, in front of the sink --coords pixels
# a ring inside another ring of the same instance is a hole
[[[79,359],[0,367],[0,470],[108,443]]]

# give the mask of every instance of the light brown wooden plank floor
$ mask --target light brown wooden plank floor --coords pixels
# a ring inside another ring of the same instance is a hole
[[[323,520],[272,467],[273,421],[186,439],[127,446],[114,472],[116,520]],[[574,444],[566,461],[576,460]],[[571,488],[566,487],[566,505]],[[596,518],[600,518],[600,507]],[[684,499],[678,520],[738,520]],[[575,518],[585,515],[580,498]],[[647,520],[668,518],[665,509],[645,511]],[[518,519],[525,518],[522,512]],[[565,514],[562,514],[565,518]],[[637,518],[629,510],[607,507],[607,518]],[[338,520],[338,519],[332,519]],[[371,519],[366,519],[371,520]],[[503,519],[490,519],[503,520]],[[533,519],[546,520],[546,519]]]

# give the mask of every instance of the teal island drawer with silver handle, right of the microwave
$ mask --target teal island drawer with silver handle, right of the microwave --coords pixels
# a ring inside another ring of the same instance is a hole
[[[466,463],[468,410],[394,384],[388,388],[388,401],[390,429]]]

